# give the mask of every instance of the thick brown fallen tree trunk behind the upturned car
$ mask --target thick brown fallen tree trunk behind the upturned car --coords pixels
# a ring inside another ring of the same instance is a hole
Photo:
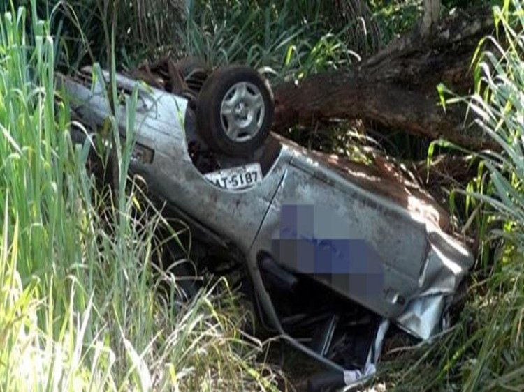
[[[444,110],[437,93],[440,82],[467,93],[476,47],[492,31],[490,10],[482,8],[443,20],[428,38],[410,33],[354,69],[280,84],[275,87],[275,129],[322,118],[368,119],[469,149],[495,148],[478,129],[466,129],[464,108]]]

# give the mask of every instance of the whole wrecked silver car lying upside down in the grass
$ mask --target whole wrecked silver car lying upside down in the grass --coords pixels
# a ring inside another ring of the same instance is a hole
[[[64,83],[96,128],[110,105],[90,72]],[[326,365],[312,389],[372,375],[392,323],[422,340],[446,328],[473,257],[430,197],[270,133],[272,93],[251,68],[178,73],[172,93],[117,75],[119,91],[138,88],[131,172],[242,263],[264,329]]]

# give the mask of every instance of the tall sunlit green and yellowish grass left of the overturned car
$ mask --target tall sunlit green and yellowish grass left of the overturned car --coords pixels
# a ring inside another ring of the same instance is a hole
[[[97,193],[57,99],[56,49],[36,0],[1,15],[0,390],[274,390],[224,281],[185,305],[157,294],[160,280],[176,289],[153,273],[162,218],[131,213],[130,144],[131,195]]]

